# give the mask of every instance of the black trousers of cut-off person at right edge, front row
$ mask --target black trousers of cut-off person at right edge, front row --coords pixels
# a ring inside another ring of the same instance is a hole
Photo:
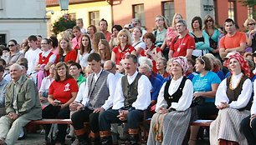
[[[256,143],[256,119],[253,119],[252,128],[250,127],[250,117],[245,117],[241,122],[242,132],[247,139],[248,145]]]

